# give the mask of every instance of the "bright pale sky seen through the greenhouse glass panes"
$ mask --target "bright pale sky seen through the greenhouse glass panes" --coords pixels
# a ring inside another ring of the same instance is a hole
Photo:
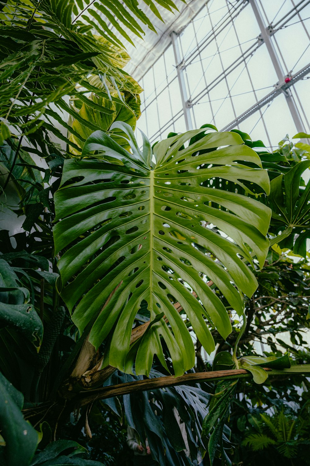
[[[310,1],[256,0],[284,74],[310,63]],[[241,0],[210,0],[177,39],[193,128],[212,123],[221,130],[275,89],[278,82],[251,5]],[[140,84],[142,116],[138,128],[154,143],[170,131],[186,131],[172,45]],[[290,88],[304,129],[309,133],[309,75]],[[191,106],[192,104],[192,106]],[[235,128],[266,146],[297,132],[286,97],[281,94]],[[141,142],[137,131],[138,141]]]

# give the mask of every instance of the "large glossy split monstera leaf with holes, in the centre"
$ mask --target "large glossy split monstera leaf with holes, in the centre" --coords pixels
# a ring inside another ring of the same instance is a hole
[[[131,372],[135,362],[136,372],[147,375],[157,354],[166,367],[164,341],[179,376],[195,359],[185,315],[209,354],[214,340],[207,322],[223,338],[232,331],[226,308],[207,282],[241,315],[242,294],[251,296],[257,288],[246,262],[253,256],[262,267],[269,247],[268,207],[204,184],[216,177],[223,183],[246,181],[268,194],[269,178],[236,133],[192,130],[156,144],[152,153],[145,135],[140,151],[129,125],[113,127],[127,135],[132,153],[95,131],[83,148],[87,158],[65,161],[55,193],[55,253],[65,251],[58,261],[62,298],[70,311],[76,306],[72,318],[80,332],[94,321],[89,340],[96,348],[109,337],[111,365]],[[153,324],[130,346],[144,300]]]

